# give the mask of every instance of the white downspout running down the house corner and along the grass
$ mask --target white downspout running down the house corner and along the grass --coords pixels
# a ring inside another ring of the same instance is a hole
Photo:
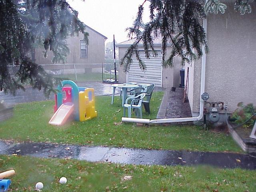
[[[203,19],[203,28],[207,33],[207,19]],[[189,121],[199,121],[202,119],[204,115],[204,100],[202,100],[201,96],[204,93],[205,87],[205,67],[206,67],[206,54],[204,52],[204,45],[202,46],[203,56],[202,56],[202,64],[201,64],[201,88],[200,88],[200,109],[199,115],[197,117],[184,117],[184,118],[165,118],[165,119],[140,119],[140,118],[127,118],[122,117],[122,122],[134,122],[134,123],[173,123],[173,122],[189,122]]]

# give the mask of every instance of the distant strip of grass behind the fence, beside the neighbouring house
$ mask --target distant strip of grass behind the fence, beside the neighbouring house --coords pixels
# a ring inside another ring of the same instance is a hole
[[[112,74],[113,76],[113,74]],[[102,82],[102,73],[83,73],[83,74],[64,74],[64,75],[56,75],[58,78],[64,78],[67,80],[72,80],[76,82]],[[103,80],[109,79],[110,74],[103,74]],[[118,76],[117,76],[118,78]]]

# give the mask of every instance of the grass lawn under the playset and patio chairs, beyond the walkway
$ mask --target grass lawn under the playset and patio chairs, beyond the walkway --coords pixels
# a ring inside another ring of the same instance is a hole
[[[163,92],[154,92],[150,103],[151,114],[143,109],[144,118],[156,118]],[[152,125],[136,127],[120,124],[123,114],[121,100],[97,96],[98,117],[86,122],[70,122],[58,127],[48,124],[53,115],[53,101],[18,104],[13,118],[0,123],[0,139],[65,144],[120,146],[190,151],[242,152],[231,136],[204,131],[200,126]],[[135,117],[135,115],[133,114]]]

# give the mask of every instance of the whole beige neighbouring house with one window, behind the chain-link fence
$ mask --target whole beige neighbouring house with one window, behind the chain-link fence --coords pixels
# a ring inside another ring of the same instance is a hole
[[[105,62],[105,40],[106,36],[100,34],[96,30],[86,26],[85,31],[89,33],[89,44],[87,45],[84,41],[84,36],[80,33],[78,36],[69,37],[64,43],[68,45],[70,49],[70,54],[67,56],[65,67],[74,68],[70,64],[85,64],[77,65],[77,68],[87,68],[90,67],[88,64],[102,64]],[[41,65],[52,65],[52,52],[48,53],[48,57],[44,58],[43,49],[36,49],[36,63]],[[100,65],[99,65],[100,66]],[[101,67],[101,66],[100,66]],[[47,69],[55,69],[57,66],[44,66]],[[77,70],[81,72],[81,70]],[[84,70],[82,70],[84,72]]]

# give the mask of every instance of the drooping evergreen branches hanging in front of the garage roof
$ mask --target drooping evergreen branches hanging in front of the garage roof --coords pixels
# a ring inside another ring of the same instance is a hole
[[[154,52],[153,56],[156,56],[154,38],[158,36],[162,37],[161,53],[163,66],[172,66],[174,56],[182,58],[182,65],[200,58],[203,54],[202,45],[208,51],[206,33],[200,24],[201,19],[205,17],[206,12],[202,2],[194,0],[150,1],[150,22],[145,24],[142,30],[142,26],[138,22],[138,18],[142,18],[139,11],[134,26],[129,28],[128,36],[135,35],[136,42],[134,44],[136,46],[130,46],[127,54],[120,60],[120,64],[124,66],[124,71],[128,71],[130,63],[126,62],[130,62],[132,56],[135,56],[138,60],[140,68],[146,70],[146,66],[142,64],[141,58],[137,55],[138,42],[142,42],[145,56],[150,58],[151,52]],[[139,32],[137,32],[138,30]],[[165,60],[168,44],[172,46],[172,51],[168,59]],[[195,53],[193,50],[195,50]],[[127,57],[129,57],[128,60],[126,60]]]

